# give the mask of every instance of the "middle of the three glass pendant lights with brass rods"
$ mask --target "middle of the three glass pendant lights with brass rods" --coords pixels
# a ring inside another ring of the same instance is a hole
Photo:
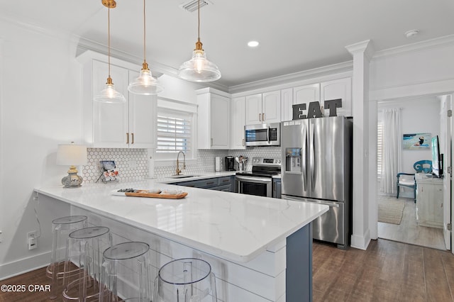
[[[143,65],[139,77],[129,84],[128,90],[133,94],[159,94],[164,89],[148,69],[145,50],[145,0],[143,0]]]

